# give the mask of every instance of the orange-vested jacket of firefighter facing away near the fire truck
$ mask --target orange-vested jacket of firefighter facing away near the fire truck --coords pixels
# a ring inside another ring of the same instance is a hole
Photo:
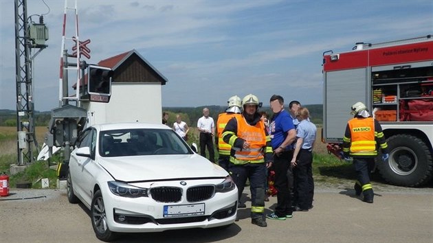
[[[352,157],[375,157],[378,145],[388,153],[382,128],[373,117],[355,117],[348,121],[343,137],[343,152]]]

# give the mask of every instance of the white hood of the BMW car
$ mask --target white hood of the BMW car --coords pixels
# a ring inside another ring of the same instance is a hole
[[[228,176],[223,168],[199,154],[101,157],[99,163],[118,181]]]

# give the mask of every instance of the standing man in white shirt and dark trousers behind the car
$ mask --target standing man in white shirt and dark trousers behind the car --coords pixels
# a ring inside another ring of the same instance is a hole
[[[200,132],[200,154],[206,158],[206,147],[208,147],[209,160],[215,163],[215,152],[213,136],[215,135],[214,119],[209,116],[209,109],[203,108],[203,117],[199,118],[197,128]]]

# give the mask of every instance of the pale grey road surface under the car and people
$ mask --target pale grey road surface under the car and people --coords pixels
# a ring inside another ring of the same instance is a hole
[[[247,201],[247,209],[238,209],[240,220],[227,229],[127,234],[117,242],[432,242],[431,187],[378,188],[373,204],[353,194],[344,185],[316,187],[313,209],[267,220],[266,228],[251,224]],[[270,198],[267,212],[275,204]],[[64,189],[12,189],[0,198],[0,242],[100,242],[88,213],[82,204],[69,204]]]

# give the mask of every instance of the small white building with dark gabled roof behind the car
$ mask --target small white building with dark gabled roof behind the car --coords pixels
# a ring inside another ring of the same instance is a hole
[[[114,71],[109,103],[82,100],[87,124],[162,122],[162,85],[168,81],[135,49],[98,62]],[[87,75],[84,78],[87,89]],[[74,85],[75,89],[75,85]]]

